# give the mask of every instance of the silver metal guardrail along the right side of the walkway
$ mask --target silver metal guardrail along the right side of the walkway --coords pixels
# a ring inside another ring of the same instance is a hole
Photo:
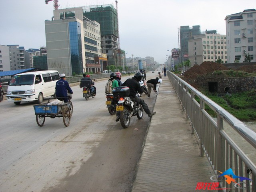
[[[175,74],[167,71],[167,75],[174,86],[182,109],[186,113],[186,118],[192,125],[192,134],[196,133],[200,141],[200,155],[206,155],[214,173],[220,175],[218,171],[224,172],[232,168],[236,176],[252,180],[245,180],[242,184],[242,186],[247,186],[246,189],[238,189],[233,182],[227,184],[224,180],[220,182],[220,185],[223,188],[228,188],[226,192],[256,192],[256,165],[225,132],[223,125],[226,122],[244,138],[244,142],[248,142],[248,146],[252,146],[254,149],[256,149],[256,133]],[[195,96],[199,98],[199,103],[196,101]],[[205,111],[205,104],[216,113],[217,122]],[[248,172],[249,169],[251,172]],[[238,179],[235,180],[238,183],[242,182]]]

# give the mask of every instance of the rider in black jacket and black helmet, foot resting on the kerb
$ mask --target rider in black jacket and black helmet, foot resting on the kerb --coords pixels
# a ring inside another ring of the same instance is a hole
[[[145,103],[145,101],[143,99],[141,99],[140,97],[136,96],[137,92],[138,93],[143,93],[143,89],[140,87],[139,81],[142,80],[142,73],[141,72],[137,72],[134,77],[127,79],[125,82],[122,83],[122,86],[127,86],[130,88],[130,95],[129,97],[142,105],[142,108],[144,109],[144,111],[146,112],[146,114],[148,114],[149,117],[151,117],[152,115],[156,114],[156,112],[150,112],[150,110],[148,109],[148,105]],[[120,119],[120,116],[118,114],[116,114],[116,122],[118,122]]]

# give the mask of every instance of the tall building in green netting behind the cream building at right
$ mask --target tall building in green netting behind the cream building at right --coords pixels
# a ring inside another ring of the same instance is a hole
[[[188,40],[199,34],[201,34],[200,25],[195,25],[191,28],[189,26],[180,26],[180,58],[183,61],[188,60]]]

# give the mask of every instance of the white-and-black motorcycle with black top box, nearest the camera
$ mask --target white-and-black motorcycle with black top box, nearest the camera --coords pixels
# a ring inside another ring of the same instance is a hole
[[[129,94],[130,89],[126,86],[113,89],[113,95],[118,98],[116,111],[120,111],[120,122],[123,128],[128,128],[132,116],[137,116],[138,119],[143,117],[142,105],[128,97]],[[138,93],[136,96],[138,96]]]

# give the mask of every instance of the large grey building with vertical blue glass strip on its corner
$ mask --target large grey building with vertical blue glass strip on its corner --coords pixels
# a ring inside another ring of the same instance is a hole
[[[68,76],[98,73],[102,58],[100,24],[83,16],[82,7],[54,10],[54,20],[45,21],[48,70]]]

